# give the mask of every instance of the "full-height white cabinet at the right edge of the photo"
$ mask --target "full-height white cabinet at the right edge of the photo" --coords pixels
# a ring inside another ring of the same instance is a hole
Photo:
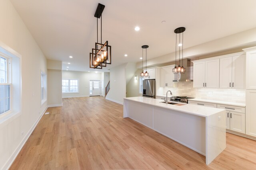
[[[256,47],[246,51],[246,135],[256,137]]]

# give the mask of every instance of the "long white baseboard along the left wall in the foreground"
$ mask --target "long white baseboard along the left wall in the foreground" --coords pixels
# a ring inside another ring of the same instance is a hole
[[[28,140],[28,138],[30,137],[30,135],[32,134],[32,132],[34,131],[34,129],[36,128],[36,125],[38,124],[38,122],[40,121],[40,119],[42,118],[42,116],[44,115],[46,109],[48,107],[46,107],[44,109],[44,111],[41,113],[41,115],[38,117],[38,119],[36,120],[36,122],[34,123],[34,125],[30,128],[30,130],[28,131],[28,133],[25,135],[25,137],[23,138],[23,140],[20,142],[20,144],[18,145],[18,147],[14,150],[14,152],[12,153],[12,156],[8,159],[8,161],[6,162],[6,164],[3,166],[2,170],[8,170],[10,168],[10,166],[12,165],[12,163],[14,162],[14,160],[16,159],[16,157],[18,156],[18,154],[20,153],[20,150],[23,148],[23,146],[25,145],[26,141]]]

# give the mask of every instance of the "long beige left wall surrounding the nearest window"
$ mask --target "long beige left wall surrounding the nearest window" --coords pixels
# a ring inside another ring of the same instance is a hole
[[[46,58],[9,0],[0,1],[0,41],[21,57],[21,114],[0,119],[0,169],[7,169],[47,107],[41,106],[40,75]]]

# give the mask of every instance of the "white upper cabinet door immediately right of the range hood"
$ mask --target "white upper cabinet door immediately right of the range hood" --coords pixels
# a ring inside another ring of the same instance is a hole
[[[194,63],[193,87],[203,88],[205,83],[205,61]]]

